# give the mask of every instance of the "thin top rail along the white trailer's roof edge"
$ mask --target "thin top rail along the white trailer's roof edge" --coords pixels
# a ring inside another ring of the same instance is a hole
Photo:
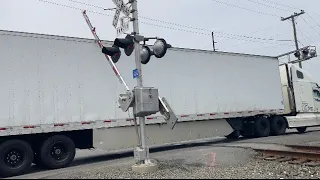
[[[11,35],[11,36],[21,36],[21,37],[34,37],[34,38],[45,38],[45,39],[55,39],[55,40],[64,40],[64,41],[78,41],[78,42],[87,42],[94,43],[95,39],[90,38],[80,38],[72,36],[61,36],[61,35],[50,35],[50,34],[41,34],[41,33],[30,33],[22,31],[11,31],[11,30],[0,30],[0,35]],[[112,44],[112,41],[102,40],[104,44]],[[236,53],[236,52],[224,52],[224,51],[210,51],[202,49],[192,49],[192,48],[181,48],[181,47],[172,47],[172,51],[185,51],[185,52],[201,52],[209,54],[228,54],[235,56],[249,56],[249,57],[261,57],[278,60],[276,56],[267,56],[267,55],[257,55],[257,54],[246,54],[246,53]]]

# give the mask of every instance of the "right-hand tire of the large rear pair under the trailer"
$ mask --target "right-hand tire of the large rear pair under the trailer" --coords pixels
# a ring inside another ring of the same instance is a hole
[[[47,139],[40,149],[40,161],[48,169],[68,166],[76,154],[74,142],[67,136],[56,135]]]

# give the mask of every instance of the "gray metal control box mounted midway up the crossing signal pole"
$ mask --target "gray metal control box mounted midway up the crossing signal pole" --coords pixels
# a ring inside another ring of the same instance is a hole
[[[137,117],[149,116],[159,112],[158,89],[152,87],[135,87],[133,113]]]

